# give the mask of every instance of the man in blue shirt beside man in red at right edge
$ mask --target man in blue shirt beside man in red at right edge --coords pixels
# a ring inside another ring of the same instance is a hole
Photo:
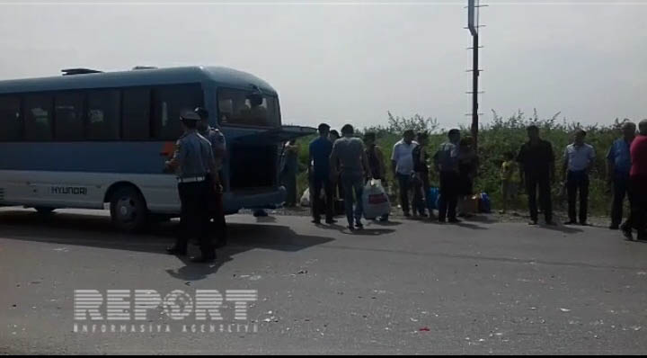
[[[611,226],[617,230],[623,218],[623,203],[625,195],[629,203],[633,201],[629,192],[629,172],[631,171],[631,153],[629,148],[635,138],[636,125],[630,121],[622,127],[623,138],[616,139],[607,152],[607,185],[610,191],[613,187],[613,208],[611,210]]]

